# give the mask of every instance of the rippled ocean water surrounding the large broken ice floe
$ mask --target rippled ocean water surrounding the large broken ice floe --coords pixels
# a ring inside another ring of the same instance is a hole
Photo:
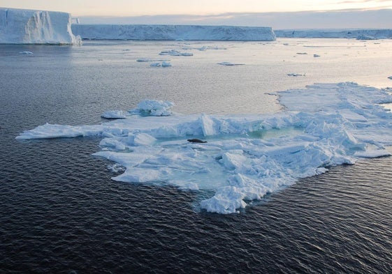
[[[282,109],[268,93],[315,82],[392,86],[391,45],[0,45],[0,272],[389,273],[391,158],[333,167],[219,215],[197,209],[209,192],[112,181],[112,162],[92,156],[99,138],[15,137],[46,122],[101,123],[106,110],[133,109],[145,98],[171,100],[184,114],[263,114]],[[173,49],[194,55],[159,55]]]

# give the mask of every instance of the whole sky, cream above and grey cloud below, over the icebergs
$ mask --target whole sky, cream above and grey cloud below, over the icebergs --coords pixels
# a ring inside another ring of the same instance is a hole
[[[81,24],[392,27],[392,0],[0,0],[0,7],[64,11]]]

